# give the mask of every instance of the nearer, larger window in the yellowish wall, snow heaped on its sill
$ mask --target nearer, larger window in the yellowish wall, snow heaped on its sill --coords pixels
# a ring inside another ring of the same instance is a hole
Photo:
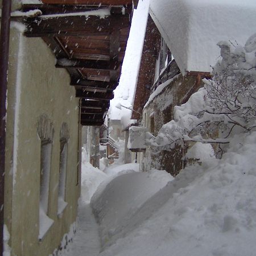
[[[51,176],[51,156],[53,124],[46,114],[40,115],[37,123],[38,136],[41,141],[40,147],[40,186],[39,186],[39,240],[53,224],[49,215],[49,181]]]

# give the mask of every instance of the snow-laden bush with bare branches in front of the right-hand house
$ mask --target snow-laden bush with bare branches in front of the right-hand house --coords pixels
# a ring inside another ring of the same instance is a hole
[[[233,134],[255,129],[256,34],[244,47],[219,42],[221,60],[213,67],[204,88],[174,108],[174,119],[156,137],[147,135],[151,146],[168,150],[185,142],[229,143]]]

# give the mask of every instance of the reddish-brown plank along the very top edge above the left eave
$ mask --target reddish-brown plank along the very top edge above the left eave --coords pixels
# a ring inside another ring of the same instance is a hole
[[[42,0],[54,5],[131,5],[132,0]]]

